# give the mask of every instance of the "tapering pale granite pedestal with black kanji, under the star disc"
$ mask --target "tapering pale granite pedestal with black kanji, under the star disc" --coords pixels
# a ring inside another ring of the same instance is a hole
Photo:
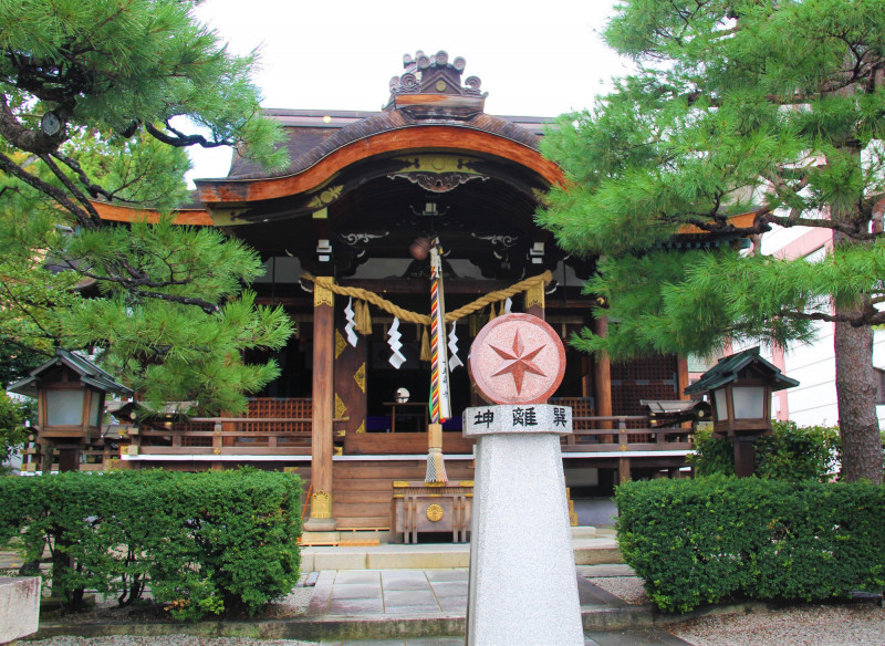
[[[464,428],[477,438],[467,645],[583,645],[559,437],[571,408],[468,408]]]

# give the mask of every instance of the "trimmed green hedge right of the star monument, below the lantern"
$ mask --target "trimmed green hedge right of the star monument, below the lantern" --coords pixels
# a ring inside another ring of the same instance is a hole
[[[617,540],[653,603],[811,601],[885,586],[885,488],[758,478],[628,482]]]

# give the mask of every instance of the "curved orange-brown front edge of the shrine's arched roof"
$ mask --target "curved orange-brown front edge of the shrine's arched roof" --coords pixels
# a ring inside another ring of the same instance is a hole
[[[418,149],[480,153],[503,158],[533,170],[550,185],[565,176],[533,146],[466,125],[408,125],[355,138],[329,152],[303,170],[280,177],[197,179],[197,195],[205,205],[250,202],[305,192],[322,186],[343,168],[386,153]]]

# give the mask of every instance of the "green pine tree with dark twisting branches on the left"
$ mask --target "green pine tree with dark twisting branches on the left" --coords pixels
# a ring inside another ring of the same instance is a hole
[[[292,323],[241,294],[253,250],[168,213],[187,197],[186,147],[270,168],[285,153],[254,55],[230,55],[195,4],[0,0],[0,343],[97,351],[150,399],[236,413],[279,372],[242,351],[281,347]],[[98,200],[166,216],[115,225]]]

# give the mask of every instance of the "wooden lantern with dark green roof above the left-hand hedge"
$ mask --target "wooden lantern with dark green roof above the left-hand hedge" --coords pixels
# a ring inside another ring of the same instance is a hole
[[[43,449],[44,473],[52,468],[53,449],[59,449],[60,471],[77,470],[83,447],[101,437],[107,393],[133,395],[92,362],[62,348],[27,378],[11,384],[9,390],[37,398],[35,431]]]

